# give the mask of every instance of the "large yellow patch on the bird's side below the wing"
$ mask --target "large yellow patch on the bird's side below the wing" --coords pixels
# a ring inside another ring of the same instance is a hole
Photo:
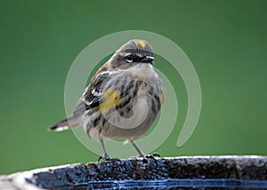
[[[112,91],[111,89],[108,89],[102,96],[102,99],[104,101],[101,103],[101,105],[98,107],[101,112],[105,112],[113,107],[117,107],[119,104],[119,94],[117,91]]]

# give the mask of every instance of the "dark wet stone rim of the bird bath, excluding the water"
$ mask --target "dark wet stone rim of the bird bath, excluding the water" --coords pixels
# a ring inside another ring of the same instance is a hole
[[[8,180],[7,180],[8,178]],[[188,156],[174,158],[138,158],[71,164],[38,169],[0,178],[1,186],[54,188],[88,185],[101,181],[136,181],[235,178],[267,180],[265,156]],[[11,188],[12,189],[12,188]]]

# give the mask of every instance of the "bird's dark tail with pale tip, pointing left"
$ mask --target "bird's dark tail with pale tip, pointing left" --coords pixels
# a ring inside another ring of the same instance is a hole
[[[76,127],[79,124],[79,120],[76,116],[70,116],[66,119],[61,120],[61,122],[54,124],[49,131],[64,131],[69,130],[72,127]]]

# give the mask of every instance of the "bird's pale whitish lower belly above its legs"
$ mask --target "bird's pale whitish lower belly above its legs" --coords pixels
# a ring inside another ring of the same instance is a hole
[[[140,96],[132,103],[132,107],[112,108],[101,114],[98,125],[93,126],[91,123],[85,129],[93,139],[140,139],[150,129],[158,114],[151,107],[150,97]]]

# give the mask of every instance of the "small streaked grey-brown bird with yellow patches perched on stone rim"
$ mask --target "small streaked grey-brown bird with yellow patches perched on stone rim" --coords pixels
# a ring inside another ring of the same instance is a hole
[[[101,141],[104,160],[109,155],[103,139],[125,139],[144,156],[134,141],[150,129],[166,96],[153,60],[148,42],[124,44],[93,76],[73,114],[50,130],[83,125],[89,137]]]

